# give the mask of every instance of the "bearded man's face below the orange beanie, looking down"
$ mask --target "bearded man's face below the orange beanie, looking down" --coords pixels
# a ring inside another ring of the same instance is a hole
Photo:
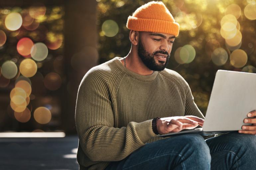
[[[175,36],[171,34],[140,32],[138,55],[153,71],[162,71],[168,64]]]

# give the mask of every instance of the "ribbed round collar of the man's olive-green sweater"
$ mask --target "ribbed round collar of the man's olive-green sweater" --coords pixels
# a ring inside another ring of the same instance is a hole
[[[141,75],[138,73],[135,73],[129,69],[127,69],[126,67],[124,67],[124,65],[121,63],[121,61],[119,59],[121,59],[122,57],[115,57],[113,58],[114,63],[117,65],[117,67],[124,72],[125,74],[138,79],[138,80],[142,80],[142,81],[152,81],[155,80],[155,78],[158,75],[158,71],[154,71],[152,74],[150,75]]]

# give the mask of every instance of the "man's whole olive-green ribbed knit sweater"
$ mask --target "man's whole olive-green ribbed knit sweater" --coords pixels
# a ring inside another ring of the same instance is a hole
[[[75,123],[80,170],[103,170],[146,142],[163,138],[152,130],[154,117],[204,118],[191,89],[177,72],[140,75],[115,57],[91,68],[78,88]]]

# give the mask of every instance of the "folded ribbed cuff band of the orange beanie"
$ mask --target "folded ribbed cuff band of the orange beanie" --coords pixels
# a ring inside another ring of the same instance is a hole
[[[180,25],[176,22],[154,20],[154,19],[141,19],[129,16],[126,27],[135,31],[159,32],[179,35]]]

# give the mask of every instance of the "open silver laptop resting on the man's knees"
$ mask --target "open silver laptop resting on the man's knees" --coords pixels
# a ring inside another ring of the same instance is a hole
[[[202,136],[241,130],[247,114],[256,109],[256,74],[218,70],[202,128],[158,137],[197,133]]]

